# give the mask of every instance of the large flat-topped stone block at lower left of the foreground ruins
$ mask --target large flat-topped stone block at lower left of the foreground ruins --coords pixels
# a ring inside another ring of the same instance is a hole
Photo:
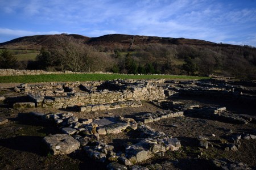
[[[53,155],[70,154],[80,147],[80,143],[67,134],[55,134],[44,137],[43,142],[46,143]]]

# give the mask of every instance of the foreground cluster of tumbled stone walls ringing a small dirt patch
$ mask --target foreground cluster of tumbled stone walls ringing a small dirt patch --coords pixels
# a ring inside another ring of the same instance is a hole
[[[70,154],[81,147],[90,158],[98,162],[121,161],[125,165],[133,165],[151,158],[158,152],[176,151],[181,147],[177,138],[168,137],[147,125],[138,125],[133,118],[104,117],[79,120],[69,112],[30,114],[40,120],[55,122],[63,131],[64,134],[55,134],[43,139],[53,155]],[[100,135],[118,134],[127,129],[137,131],[143,139],[127,146],[123,153],[115,151],[114,146],[106,145],[100,140]]]

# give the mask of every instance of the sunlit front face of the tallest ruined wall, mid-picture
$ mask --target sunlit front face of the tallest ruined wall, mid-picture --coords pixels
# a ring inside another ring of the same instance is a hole
[[[43,96],[30,95],[30,99],[34,101],[37,107],[53,107],[53,108],[67,108],[83,106],[88,104],[109,104],[118,103],[127,100],[159,100],[165,99],[163,88],[160,87],[144,87],[136,91],[94,91],[89,94],[87,92],[76,92],[71,96],[65,97],[51,97],[51,99],[44,99]]]

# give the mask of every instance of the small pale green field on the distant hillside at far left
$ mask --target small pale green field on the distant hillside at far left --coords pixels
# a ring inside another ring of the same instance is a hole
[[[35,61],[36,56],[39,54],[38,50],[22,50],[22,49],[8,49],[14,56],[17,58],[18,61],[24,60],[32,60]],[[2,49],[0,49],[2,52]]]

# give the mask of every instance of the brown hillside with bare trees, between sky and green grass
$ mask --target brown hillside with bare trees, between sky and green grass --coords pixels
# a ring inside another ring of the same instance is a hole
[[[0,48],[38,50],[14,69],[111,71],[128,74],[224,75],[256,79],[256,48],[168,37],[38,35],[3,42]],[[1,66],[6,67],[5,66]]]

